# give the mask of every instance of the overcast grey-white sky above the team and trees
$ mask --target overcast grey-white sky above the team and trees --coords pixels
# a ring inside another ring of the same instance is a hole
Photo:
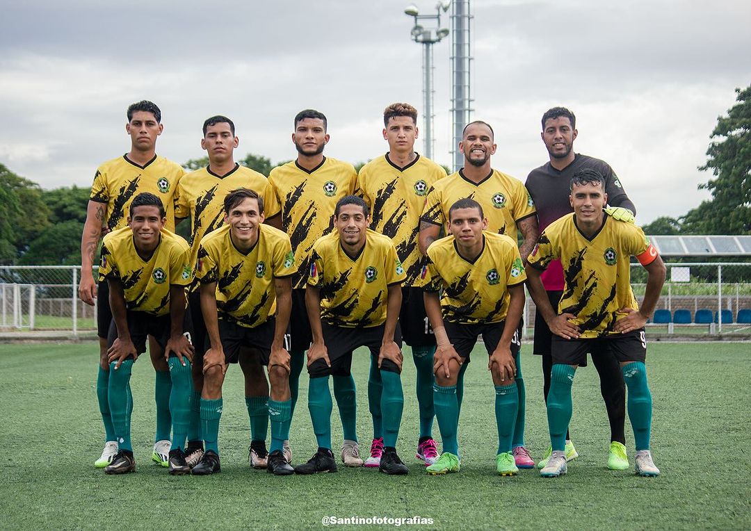
[[[0,162],[45,189],[90,186],[98,164],[128,151],[125,109],[144,98],[162,110],[157,152],[178,162],[204,155],[201,125],[214,114],[234,119],[238,158],[294,158],[292,118],[306,107],[329,119],[327,155],[369,160],[387,149],[387,104],[421,110],[409,3],[0,0]],[[414,3],[434,12],[433,0]],[[541,114],[563,105],[577,115],[575,150],[614,167],[639,222],[709,197],[697,185],[710,175],[696,167],[734,89],[751,83],[751,2],[471,9],[472,118],[496,130],[493,167],[526,180],[547,161]],[[449,44],[434,47],[434,158],[447,165]]]

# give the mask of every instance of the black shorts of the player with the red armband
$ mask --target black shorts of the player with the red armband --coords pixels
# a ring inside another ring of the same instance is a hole
[[[587,352],[594,356],[615,356],[617,361],[647,359],[647,338],[644,328],[629,333],[616,333],[596,339],[563,339],[553,336],[553,364],[581,365]]]

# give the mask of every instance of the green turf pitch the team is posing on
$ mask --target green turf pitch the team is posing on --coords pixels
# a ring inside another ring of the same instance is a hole
[[[414,458],[417,403],[409,362],[403,379],[405,412],[398,444],[406,476],[372,469],[279,478],[247,464],[248,418],[237,366],[225,383],[219,446],[222,473],[171,477],[150,463],[153,370],[134,366],[133,442],[138,470],[107,476],[93,461],[103,429],[95,397],[95,343],[0,345],[0,527],[117,529],[320,528],[321,518],[425,517],[439,529],[749,529],[749,343],[650,345],[652,448],[659,478],[605,469],[608,429],[593,367],[578,371],[572,437],[581,455],[569,474],[540,478],[521,471],[495,474],[493,388],[484,353],[467,371],[460,424],[462,470],[431,477]],[[357,354],[360,354],[358,351]],[[371,437],[366,400],[367,361],[353,364],[363,451]],[[540,361],[523,349],[527,388],[526,439],[535,457],[548,445]],[[315,451],[303,377],[292,425],[294,463]],[[334,444],[341,427],[332,419]],[[438,426],[434,428],[439,439]],[[627,427],[627,448],[633,439]],[[336,452],[335,452],[336,453]],[[413,526],[406,526],[412,528]]]

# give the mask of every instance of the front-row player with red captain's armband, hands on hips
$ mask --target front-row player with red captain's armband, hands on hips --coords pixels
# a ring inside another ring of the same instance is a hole
[[[553,333],[547,425],[553,448],[540,473],[566,474],[566,431],[572,416],[571,389],[576,368],[587,358],[614,357],[629,388],[629,418],[636,443],[636,472],[659,475],[650,454],[652,396],[647,386],[647,339],[644,324],[652,315],[665,282],[665,264],[641,228],[603,212],[608,203],[605,178],[582,168],[571,180],[574,213],[545,228],[526,266],[529,294]],[[630,284],[629,257],[647,270],[641,307]],[[566,282],[556,309],[541,282],[553,260],[563,265]]]

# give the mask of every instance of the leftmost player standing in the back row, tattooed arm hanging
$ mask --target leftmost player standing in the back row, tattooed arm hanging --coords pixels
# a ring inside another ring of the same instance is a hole
[[[99,412],[104,422],[105,443],[101,457],[95,461],[97,468],[107,466],[115,457],[118,445],[110,415],[107,390],[109,388],[109,364],[107,363],[107,332],[112,321],[107,282],[99,278],[95,282],[92,274],[94,255],[99,239],[104,231],[116,231],[125,227],[128,207],[140,192],[150,192],[161,198],[165,206],[167,220],[165,228],[174,231],[173,194],[183,173],[175,162],[156,155],[156,138],[164,125],[161,123],[161,110],[151,101],[139,101],[128,107],[128,123],[125,131],[131,137],[131,149],[125,155],[107,161],[98,167],[89,205],[86,210],[86,223],[81,235],[81,281],[78,296],[89,305],[97,304],[97,328],[99,336],[99,372],[97,376],[97,398]],[[164,353],[158,344],[149,342],[149,354],[156,370],[156,436],[152,459],[167,466],[170,450],[170,374]]]

